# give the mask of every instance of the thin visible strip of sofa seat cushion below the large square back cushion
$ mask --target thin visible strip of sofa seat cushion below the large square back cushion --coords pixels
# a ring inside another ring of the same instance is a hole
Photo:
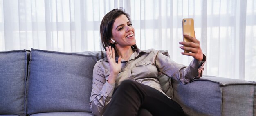
[[[91,112],[49,112],[38,113],[30,116],[93,116]]]

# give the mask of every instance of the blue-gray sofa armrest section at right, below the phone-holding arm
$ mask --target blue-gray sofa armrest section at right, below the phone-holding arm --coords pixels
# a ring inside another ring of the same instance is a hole
[[[256,116],[256,82],[203,75],[171,83],[173,99],[188,116]]]

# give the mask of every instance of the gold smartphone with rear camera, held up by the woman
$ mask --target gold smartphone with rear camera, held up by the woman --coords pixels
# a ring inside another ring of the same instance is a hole
[[[183,33],[190,35],[192,37],[195,37],[195,31],[194,31],[194,20],[192,18],[186,18],[182,20],[182,31]],[[184,36],[183,41],[188,42]],[[184,50],[185,53],[188,53],[188,51]]]

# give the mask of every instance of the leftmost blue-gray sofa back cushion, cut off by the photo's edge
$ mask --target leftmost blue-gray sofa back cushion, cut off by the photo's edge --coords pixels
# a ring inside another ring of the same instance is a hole
[[[0,52],[0,114],[26,115],[26,50]]]

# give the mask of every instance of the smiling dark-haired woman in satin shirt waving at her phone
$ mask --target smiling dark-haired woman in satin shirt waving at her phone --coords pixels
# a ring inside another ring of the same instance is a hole
[[[180,42],[182,53],[194,57],[186,67],[157,50],[140,50],[130,16],[122,9],[107,13],[100,26],[101,42],[106,50],[94,66],[90,107],[96,116],[182,116],[182,107],[169,98],[159,83],[158,72],[182,83],[200,78],[205,56],[199,41]]]

